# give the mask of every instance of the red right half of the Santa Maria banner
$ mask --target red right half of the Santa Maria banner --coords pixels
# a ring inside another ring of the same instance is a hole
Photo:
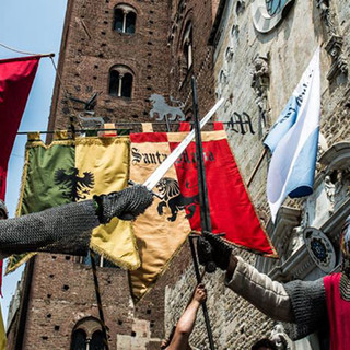
[[[219,131],[221,132],[221,131]],[[213,233],[225,233],[224,238],[265,256],[277,256],[243,184],[238,167],[226,138],[205,141],[205,166]],[[171,149],[178,143],[171,143]],[[184,197],[198,195],[196,144],[191,142],[175,163],[179,188]],[[192,230],[200,231],[200,211],[189,219]],[[186,208],[187,214],[188,208]]]

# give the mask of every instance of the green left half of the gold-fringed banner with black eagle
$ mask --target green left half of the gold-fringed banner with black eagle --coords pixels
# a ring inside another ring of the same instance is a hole
[[[16,215],[38,212],[72,201],[69,174],[74,170],[74,141],[67,132],[57,132],[51,144],[40,140],[39,132],[28,135],[25,163]],[[60,178],[59,174],[67,174]],[[9,258],[7,273],[28,260],[35,253],[13,255]]]

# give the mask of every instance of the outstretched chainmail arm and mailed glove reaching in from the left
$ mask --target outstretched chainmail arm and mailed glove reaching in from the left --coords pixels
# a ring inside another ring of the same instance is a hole
[[[94,228],[108,223],[114,217],[133,220],[152,201],[152,192],[142,185],[136,185],[94,196],[91,200],[0,220],[0,258],[27,252],[85,255]],[[8,217],[2,201],[0,215]]]

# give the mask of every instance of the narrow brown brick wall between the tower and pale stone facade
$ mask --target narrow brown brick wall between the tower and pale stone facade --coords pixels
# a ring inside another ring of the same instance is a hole
[[[212,48],[208,46],[218,1],[173,1],[168,45],[171,47],[171,95],[185,103],[185,114],[191,116],[191,77],[197,80],[199,113],[206,114],[214,104]],[[192,25],[192,59],[190,69],[184,68],[183,39],[186,25]]]

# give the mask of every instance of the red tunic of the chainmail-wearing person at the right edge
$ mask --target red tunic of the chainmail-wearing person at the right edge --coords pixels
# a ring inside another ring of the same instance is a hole
[[[341,273],[324,278],[330,327],[330,350],[348,350],[350,345],[350,302],[341,299],[339,282]]]

